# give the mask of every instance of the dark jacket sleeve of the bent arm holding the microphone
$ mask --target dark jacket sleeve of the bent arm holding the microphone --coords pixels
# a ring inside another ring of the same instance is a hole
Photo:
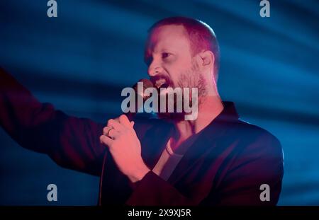
[[[126,204],[275,205],[284,173],[281,144],[275,137],[266,135],[244,149],[237,156],[237,162],[229,170],[224,170],[227,174],[220,181],[220,186],[213,187],[201,201],[185,197],[174,186],[150,171],[138,182]],[[264,184],[269,186],[269,195]]]

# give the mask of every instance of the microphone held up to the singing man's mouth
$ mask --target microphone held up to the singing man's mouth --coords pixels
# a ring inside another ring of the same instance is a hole
[[[143,88],[142,91],[138,90],[138,84],[142,83]],[[128,120],[133,120],[133,118],[135,117],[135,115],[138,112],[138,109],[142,107],[142,105],[144,104],[145,100],[147,100],[147,98],[150,98],[150,96],[145,95],[145,89],[147,88],[152,88],[154,87],[153,83],[149,80],[149,79],[140,79],[137,83],[135,83],[132,88],[135,91],[135,97],[134,100],[131,100],[132,102],[135,102],[135,111],[134,112],[130,112],[127,110],[125,110],[124,115],[126,115],[128,117]],[[139,99],[142,99],[142,102],[138,102]]]

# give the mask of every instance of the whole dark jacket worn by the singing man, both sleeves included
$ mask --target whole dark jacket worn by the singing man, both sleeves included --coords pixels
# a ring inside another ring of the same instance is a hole
[[[38,102],[0,69],[1,126],[21,146],[49,155],[62,167],[101,175],[99,204],[276,204],[284,173],[281,144],[264,129],[239,120],[233,103],[224,105],[167,181],[150,171],[132,184],[99,141],[103,124]],[[136,117],[135,131],[149,168],[157,163],[172,129],[163,120]],[[262,184],[269,185],[269,202],[260,199]]]

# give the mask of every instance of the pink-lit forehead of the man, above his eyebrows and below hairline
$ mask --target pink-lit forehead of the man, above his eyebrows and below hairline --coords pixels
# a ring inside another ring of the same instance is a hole
[[[147,53],[162,50],[185,52],[189,50],[189,37],[183,25],[163,25],[150,33],[147,42]]]

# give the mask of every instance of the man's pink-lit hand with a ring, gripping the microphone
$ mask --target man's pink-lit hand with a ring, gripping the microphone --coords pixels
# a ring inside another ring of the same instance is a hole
[[[134,122],[130,122],[126,115],[121,115],[118,120],[108,120],[107,126],[103,128],[100,141],[108,146],[121,172],[135,183],[142,180],[150,169],[142,160],[140,141],[133,126]]]

